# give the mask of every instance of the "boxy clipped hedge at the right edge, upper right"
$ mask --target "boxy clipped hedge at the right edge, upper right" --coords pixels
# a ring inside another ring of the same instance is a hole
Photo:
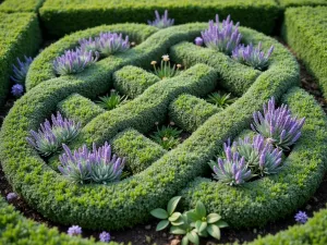
[[[326,2],[327,3],[327,2]],[[282,36],[306,69],[317,78],[327,98],[327,7],[286,11]]]

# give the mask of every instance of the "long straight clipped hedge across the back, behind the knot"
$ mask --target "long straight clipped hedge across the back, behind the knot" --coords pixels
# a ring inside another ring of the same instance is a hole
[[[40,9],[40,17],[50,35],[63,36],[101,24],[146,23],[147,20],[154,20],[155,10],[162,14],[166,9],[175,24],[207,22],[218,11],[222,19],[231,14],[241,25],[266,34],[272,32],[275,22],[281,14],[274,0],[48,0]]]

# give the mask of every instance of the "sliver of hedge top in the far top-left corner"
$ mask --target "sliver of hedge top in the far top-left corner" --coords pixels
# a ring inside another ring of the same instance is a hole
[[[45,0],[5,0],[0,4],[0,12],[37,12]]]

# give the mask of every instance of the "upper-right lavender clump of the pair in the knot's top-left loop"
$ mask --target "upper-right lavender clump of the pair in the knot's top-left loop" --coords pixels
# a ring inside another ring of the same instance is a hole
[[[117,33],[100,33],[95,39],[81,39],[80,45],[82,50],[99,52],[102,57],[130,49],[129,36],[123,39],[122,34]]]

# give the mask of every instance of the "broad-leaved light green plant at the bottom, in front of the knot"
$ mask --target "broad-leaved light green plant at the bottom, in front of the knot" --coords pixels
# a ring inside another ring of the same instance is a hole
[[[161,208],[153,210],[150,213],[161,219],[157,225],[157,231],[168,228],[171,223],[170,233],[174,235],[183,235],[182,245],[190,242],[198,245],[199,237],[208,237],[209,235],[216,240],[220,240],[220,229],[227,228],[228,223],[221,220],[217,213],[207,215],[204,204],[198,200],[195,209],[190,211],[174,212],[181,196],[173,197],[169,200],[167,211]]]

